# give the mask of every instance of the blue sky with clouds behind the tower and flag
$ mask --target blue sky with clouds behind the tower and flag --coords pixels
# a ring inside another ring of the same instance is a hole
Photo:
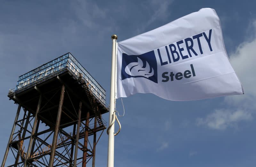
[[[153,94],[123,98],[126,113],[115,137],[115,166],[255,166],[255,6],[249,0],[1,2],[1,161],[17,110],[7,93],[18,76],[71,52],[105,88],[109,102],[112,34],[122,41],[209,7],[220,17],[245,94],[185,102]],[[122,113],[120,99],[117,109]],[[103,117],[108,120],[108,114]],[[107,143],[104,132],[96,150],[99,167],[106,166]]]

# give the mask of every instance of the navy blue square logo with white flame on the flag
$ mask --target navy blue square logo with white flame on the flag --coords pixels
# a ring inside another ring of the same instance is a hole
[[[154,51],[141,55],[123,53],[122,80],[131,77],[143,77],[157,83],[157,64]]]

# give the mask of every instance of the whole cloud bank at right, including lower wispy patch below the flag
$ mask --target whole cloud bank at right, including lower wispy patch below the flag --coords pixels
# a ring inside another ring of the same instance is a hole
[[[238,122],[253,119],[255,114],[253,111],[256,110],[254,102],[256,99],[256,21],[252,21],[249,28],[251,32],[251,36],[247,38],[249,40],[241,43],[236,51],[230,55],[231,65],[243,85],[245,94],[225,97],[225,108],[215,109],[213,113],[205,118],[197,118],[197,125],[225,130],[227,127],[233,127]]]

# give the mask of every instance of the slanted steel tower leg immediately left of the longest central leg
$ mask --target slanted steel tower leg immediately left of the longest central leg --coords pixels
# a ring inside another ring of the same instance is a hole
[[[27,149],[27,153],[26,153],[26,157],[25,157],[25,161],[24,161],[24,167],[27,167],[27,160],[30,156],[30,150],[31,150],[32,141],[33,141],[33,135],[35,134],[35,130],[36,130],[37,115],[38,115],[40,107],[41,107],[41,102],[42,102],[42,95],[40,94],[38,104],[37,104],[37,108],[36,108],[36,114],[35,114],[35,118],[34,118],[35,120],[34,120],[33,128],[32,128],[32,131],[31,131],[31,135],[30,135],[30,139],[29,139],[29,143],[28,143],[28,149]]]

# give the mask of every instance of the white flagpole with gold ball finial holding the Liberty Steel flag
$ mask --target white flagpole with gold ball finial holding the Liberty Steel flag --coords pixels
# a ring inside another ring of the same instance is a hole
[[[112,46],[112,67],[111,67],[111,85],[110,85],[110,105],[109,105],[109,124],[115,119],[115,74],[116,74],[116,40],[117,36],[111,36]],[[108,166],[114,167],[114,129],[115,123],[110,127],[108,133]]]

